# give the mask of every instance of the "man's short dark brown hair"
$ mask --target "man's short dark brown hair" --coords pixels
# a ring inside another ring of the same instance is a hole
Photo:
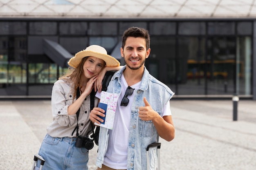
[[[146,40],[146,50],[150,48],[150,37],[149,37],[148,30],[144,28],[139,28],[139,27],[128,28],[126,31],[124,31],[124,34],[122,37],[122,49],[124,49],[124,45],[128,37],[144,38]]]

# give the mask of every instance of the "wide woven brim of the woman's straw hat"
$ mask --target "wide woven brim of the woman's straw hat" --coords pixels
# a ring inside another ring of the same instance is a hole
[[[106,62],[106,67],[120,66],[120,62],[114,57],[110,55],[102,54],[102,53],[97,53],[94,51],[88,51],[88,50],[79,51],[78,53],[76,53],[74,57],[72,57],[69,60],[69,62],[67,62],[67,64],[76,68],[84,57],[89,57],[89,56],[97,57],[101,60],[104,60]]]

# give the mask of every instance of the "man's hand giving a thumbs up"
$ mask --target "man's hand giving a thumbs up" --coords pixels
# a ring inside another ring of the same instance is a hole
[[[153,108],[148,103],[146,97],[143,98],[145,106],[139,107],[139,118],[144,121],[150,121],[158,115],[158,113],[153,110]],[[156,115],[157,114],[157,115]]]

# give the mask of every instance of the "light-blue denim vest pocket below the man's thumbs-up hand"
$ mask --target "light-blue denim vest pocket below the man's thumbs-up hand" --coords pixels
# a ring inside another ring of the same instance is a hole
[[[156,133],[156,128],[151,120],[144,121],[139,119],[139,135],[143,137],[151,137],[155,135],[155,133]]]

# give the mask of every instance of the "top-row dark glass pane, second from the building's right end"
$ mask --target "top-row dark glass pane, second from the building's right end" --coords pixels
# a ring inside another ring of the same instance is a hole
[[[234,35],[235,22],[208,22],[209,35]]]

